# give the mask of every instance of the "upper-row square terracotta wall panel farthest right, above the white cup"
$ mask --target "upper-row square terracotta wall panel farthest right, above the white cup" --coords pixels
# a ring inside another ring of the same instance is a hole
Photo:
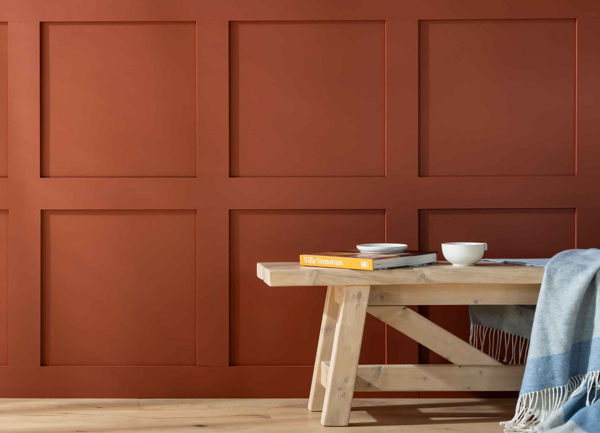
[[[575,174],[576,23],[419,22],[419,175]]]

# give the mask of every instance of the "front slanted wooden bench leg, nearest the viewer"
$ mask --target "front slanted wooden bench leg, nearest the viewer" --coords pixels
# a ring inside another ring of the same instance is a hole
[[[369,289],[368,285],[350,285],[343,288],[344,295],[335,326],[329,378],[323,402],[323,426],[348,425]]]

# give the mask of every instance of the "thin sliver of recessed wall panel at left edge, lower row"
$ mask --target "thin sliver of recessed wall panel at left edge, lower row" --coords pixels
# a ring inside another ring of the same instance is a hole
[[[0,210],[0,365],[8,365],[8,211]]]

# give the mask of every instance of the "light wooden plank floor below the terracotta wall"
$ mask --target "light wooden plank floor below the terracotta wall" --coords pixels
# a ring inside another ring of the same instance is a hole
[[[322,427],[306,399],[0,399],[0,432],[500,433],[512,399],[355,399],[349,427]]]

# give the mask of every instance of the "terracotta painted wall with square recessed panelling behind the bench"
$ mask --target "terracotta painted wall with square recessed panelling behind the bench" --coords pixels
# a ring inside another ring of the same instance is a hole
[[[583,0],[0,0],[0,396],[307,396],[325,288],[257,261],[600,246],[599,46]]]

